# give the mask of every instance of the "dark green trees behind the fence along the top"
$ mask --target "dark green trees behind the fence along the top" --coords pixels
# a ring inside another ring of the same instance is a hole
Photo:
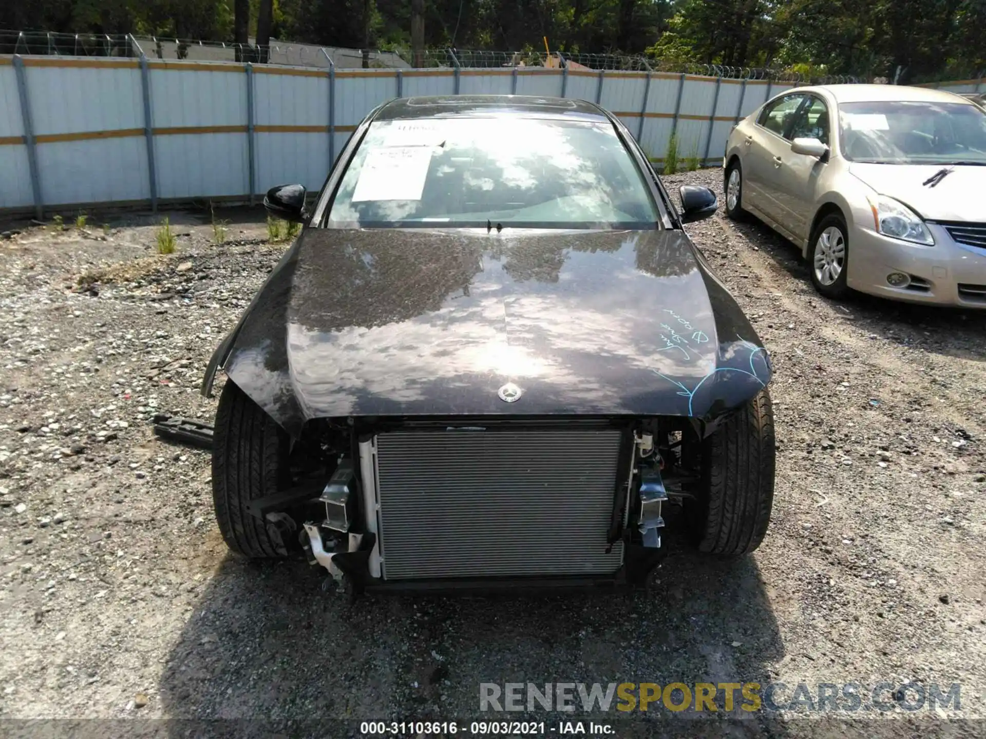
[[[235,7],[256,29],[260,0],[0,2],[0,28],[232,41]],[[408,0],[274,0],[273,35],[363,48],[410,43]],[[425,45],[646,53],[690,63],[852,74],[909,83],[986,69],[984,0],[428,0]],[[147,49],[153,53],[153,49]]]

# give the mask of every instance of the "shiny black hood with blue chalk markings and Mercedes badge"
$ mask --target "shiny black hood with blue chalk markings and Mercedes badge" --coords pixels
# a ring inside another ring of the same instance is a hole
[[[279,423],[405,415],[685,415],[770,376],[677,231],[308,229],[217,351]],[[514,383],[507,403],[499,389]]]

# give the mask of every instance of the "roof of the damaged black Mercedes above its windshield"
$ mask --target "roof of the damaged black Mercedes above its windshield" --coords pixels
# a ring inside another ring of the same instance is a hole
[[[440,95],[397,98],[377,112],[374,120],[407,120],[447,116],[488,117],[516,115],[526,118],[579,118],[607,121],[592,102],[528,95]]]

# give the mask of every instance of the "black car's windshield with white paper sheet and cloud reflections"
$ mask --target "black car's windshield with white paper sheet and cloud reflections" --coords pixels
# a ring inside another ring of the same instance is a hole
[[[659,220],[611,124],[504,116],[371,124],[326,225],[656,229]]]

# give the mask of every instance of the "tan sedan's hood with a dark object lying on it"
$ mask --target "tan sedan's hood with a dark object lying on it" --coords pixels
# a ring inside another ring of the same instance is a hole
[[[854,162],[849,171],[880,195],[904,203],[931,221],[982,221],[986,167],[955,167],[934,187],[921,184],[942,165],[873,165]]]

